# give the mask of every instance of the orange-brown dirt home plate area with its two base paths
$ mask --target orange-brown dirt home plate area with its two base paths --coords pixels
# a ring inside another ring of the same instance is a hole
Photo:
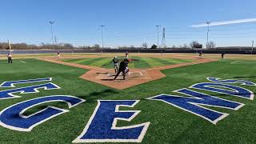
[[[150,69],[131,69],[127,74],[126,80],[122,80],[122,75],[119,75],[116,80],[114,79],[114,70],[104,69],[95,66],[85,66],[76,63],[62,62],[56,58],[38,58],[39,60],[46,62],[54,62],[66,66],[74,66],[82,69],[89,70],[86,74],[82,74],[79,78],[86,79],[90,82],[96,82],[105,86],[110,86],[114,89],[123,90],[131,86],[137,86],[139,84],[154,81],[160,78],[166,77],[165,74],[162,74],[161,70],[172,69],[181,66],[190,66],[206,62],[214,62],[214,59],[206,58],[194,58],[195,62],[187,62],[170,66],[160,66]]]

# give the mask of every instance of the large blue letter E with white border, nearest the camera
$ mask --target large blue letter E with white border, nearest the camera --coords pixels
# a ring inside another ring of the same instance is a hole
[[[82,134],[73,142],[142,142],[150,122],[134,126],[116,126],[118,121],[130,122],[140,111],[119,110],[119,106],[134,107],[139,101],[98,101]]]

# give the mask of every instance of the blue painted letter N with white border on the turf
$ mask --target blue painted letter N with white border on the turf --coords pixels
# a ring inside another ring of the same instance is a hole
[[[147,99],[166,102],[172,106],[178,107],[179,109],[186,110],[192,114],[198,115],[199,117],[205,118],[206,120],[214,124],[216,124],[222,118],[225,118],[228,114],[221,113],[215,110],[210,110],[203,106],[222,107],[230,110],[238,110],[239,108],[244,106],[244,104],[242,103],[232,102],[222,98],[216,98],[210,95],[198,93],[193,90],[182,89],[174,92],[186,94],[191,97],[161,94]]]

